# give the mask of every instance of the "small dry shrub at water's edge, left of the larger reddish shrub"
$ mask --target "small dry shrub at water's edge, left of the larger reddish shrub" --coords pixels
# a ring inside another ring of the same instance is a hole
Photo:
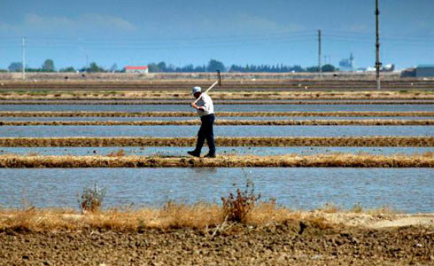
[[[83,214],[97,213],[103,205],[104,197],[105,188],[99,188],[97,183],[94,184],[93,188],[84,188],[78,199],[81,212]]]

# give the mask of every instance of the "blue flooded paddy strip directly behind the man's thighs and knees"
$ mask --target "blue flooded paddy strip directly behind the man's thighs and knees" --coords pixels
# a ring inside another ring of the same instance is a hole
[[[192,137],[198,126],[2,126],[2,137]],[[434,136],[430,126],[216,126],[221,137]]]

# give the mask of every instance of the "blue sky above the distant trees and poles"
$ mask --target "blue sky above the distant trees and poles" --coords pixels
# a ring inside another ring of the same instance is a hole
[[[380,10],[384,64],[434,63],[433,0],[380,0]],[[374,0],[0,0],[0,68],[21,60],[21,36],[31,67],[81,67],[86,57],[105,67],[314,66],[320,28],[328,63],[353,52],[356,66],[373,66],[374,11]]]

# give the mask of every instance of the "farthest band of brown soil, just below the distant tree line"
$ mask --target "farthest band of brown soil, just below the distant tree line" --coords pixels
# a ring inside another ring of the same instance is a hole
[[[57,79],[38,79],[28,76],[26,81],[13,80],[12,77],[2,78],[0,75],[0,90],[191,90],[198,85],[204,88],[210,86],[216,79],[215,74],[142,74],[126,75],[121,80],[108,80],[104,76],[95,79],[89,74],[58,74]],[[6,74],[7,75],[7,74]],[[191,75],[199,76],[198,78]],[[253,76],[252,76],[253,75]],[[342,74],[339,74],[342,75]],[[65,77],[67,76],[67,79]],[[75,78],[74,78],[75,76]],[[105,75],[106,76],[106,75]],[[135,79],[134,77],[143,78]],[[167,78],[165,77],[167,76]],[[220,90],[376,90],[375,75],[361,77],[349,75],[344,78],[333,77],[333,74],[322,79],[314,78],[313,74],[222,74]],[[128,79],[128,77],[130,77]],[[132,78],[131,78],[132,77]],[[246,78],[247,77],[247,78]],[[276,78],[270,78],[276,77]],[[433,80],[421,79],[382,79],[383,90],[432,90]]]

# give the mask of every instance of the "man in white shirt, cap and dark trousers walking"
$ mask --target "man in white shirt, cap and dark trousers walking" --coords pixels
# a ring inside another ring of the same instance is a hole
[[[191,103],[191,107],[198,110],[198,115],[200,116],[200,121],[202,125],[200,126],[198,132],[198,143],[196,144],[196,149],[194,151],[187,152],[191,156],[200,157],[200,152],[202,146],[204,145],[205,139],[209,147],[209,153],[205,155],[205,158],[215,158],[215,142],[213,134],[213,123],[214,123],[214,106],[211,97],[202,94],[202,89],[200,87],[194,87],[191,94],[195,98],[200,98],[198,103]]]

